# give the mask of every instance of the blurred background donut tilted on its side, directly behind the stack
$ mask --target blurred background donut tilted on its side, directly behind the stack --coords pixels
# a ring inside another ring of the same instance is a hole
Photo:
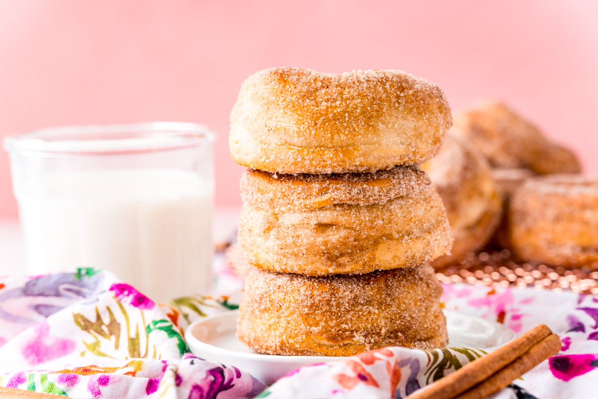
[[[501,197],[486,159],[451,134],[422,168],[442,197],[453,230],[451,254],[432,263],[443,267],[486,245],[501,218]]]

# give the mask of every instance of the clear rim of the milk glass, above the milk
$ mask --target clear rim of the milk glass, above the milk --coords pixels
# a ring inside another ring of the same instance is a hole
[[[116,133],[130,136],[109,137]],[[86,135],[94,134],[107,137],[85,138]],[[114,155],[176,150],[194,147],[206,141],[213,142],[215,139],[216,133],[203,124],[152,121],[47,127],[7,136],[4,148],[8,153]]]

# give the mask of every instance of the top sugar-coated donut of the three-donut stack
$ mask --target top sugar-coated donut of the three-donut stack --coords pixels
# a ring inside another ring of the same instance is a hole
[[[374,172],[433,157],[451,126],[433,83],[402,71],[264,69],[241,86],[228,144],[239,165],[280,173]]]

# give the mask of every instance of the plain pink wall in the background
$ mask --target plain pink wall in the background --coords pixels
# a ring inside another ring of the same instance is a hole
[[[399,68],[454,109],[507,100],[598,172],[598,2],[0,0],[0,137],[197,121],[220,133],[217,205],[240,203],[228,112],[269,66]],[[16,215],[0,154],[0,217]]]

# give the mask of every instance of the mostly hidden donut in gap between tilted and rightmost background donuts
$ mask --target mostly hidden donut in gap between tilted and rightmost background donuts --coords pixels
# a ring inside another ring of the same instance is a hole
[[[502,219],[492,237],[493,245],[511,248],[509,239],[509,208],[511,197],[527,179],[534,176],[529,169],[492,169],[492,178],[502,197]]]

